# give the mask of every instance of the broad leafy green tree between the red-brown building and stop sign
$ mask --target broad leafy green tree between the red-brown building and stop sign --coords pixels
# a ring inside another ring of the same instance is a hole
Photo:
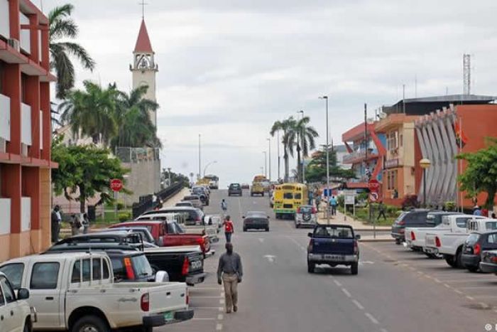
[[[114,198],[109,188],[110,180],[124,180],[128,169],[121,166],[121,161],[111,157],[108,149],[94,145],[65,146],[62,136],[52,142],[52,159],[59,164],[52,169],[52,183],[55,193],[64,193],[68,200],[80,202],[80,212],[84,213],[84,204],[89,198],[99,194],[99,202],[111,203]],[[124,190],[124,193],[129,191]]]

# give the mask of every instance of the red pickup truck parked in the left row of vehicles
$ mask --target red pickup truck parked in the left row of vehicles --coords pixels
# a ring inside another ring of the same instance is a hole
[[[142,226],[147,227],[155,242],[160,247],[177,245],[200,245],[204,255],[210,250],[209,237],[203,234],[185,234],[175,221],[167,220],[138,220],[111,225],[110,228]]]

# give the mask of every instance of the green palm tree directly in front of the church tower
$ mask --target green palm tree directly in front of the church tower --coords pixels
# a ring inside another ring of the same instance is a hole
[[[143,85],[131,90],[129,94],[119,92],[114,115],[119,132],[111,139],[112,149],[116,146],[160,147],[155,127],[148,116],[149,112],[156,112],[159,105],[153,100],[144,98],[147,90],[148,86]]]

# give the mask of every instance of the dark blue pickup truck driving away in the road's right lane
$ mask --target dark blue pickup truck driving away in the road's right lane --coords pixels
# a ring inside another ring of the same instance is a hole
[[[316,264],[350,266],[357,274],[361,235],[354,235],[354,229],[347,225],[316,225],[307,247],[307,272],[314,273]]]

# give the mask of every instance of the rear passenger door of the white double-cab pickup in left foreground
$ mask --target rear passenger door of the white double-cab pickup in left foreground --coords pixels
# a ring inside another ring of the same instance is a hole
[[[33,264],[29,283],[30,302],[38,311],[38,321],[35,328],[53,328],[61,326],[61,316],[64,314],[61,287],[62,266],[59,262],[39,262]]]

